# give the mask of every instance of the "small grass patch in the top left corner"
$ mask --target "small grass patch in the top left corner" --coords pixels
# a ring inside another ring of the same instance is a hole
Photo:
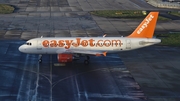
[[[14,7],[6,4],[0,4],[0,14],[10,14],[14,11]]]

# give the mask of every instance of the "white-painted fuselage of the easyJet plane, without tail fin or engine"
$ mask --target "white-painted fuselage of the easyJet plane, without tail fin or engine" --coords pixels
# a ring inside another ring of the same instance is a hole
[[[115,53],[115,52],[120,52],[120,51],[138,49],[138,48],[150,46],[150,45],[161,42],[160,39],[156,39],[156,38],[127,38],[127,37],[78,37],[78,38],[81,39],[80,44],[78,46],[73,45],[74,43],[77,43],[77,38],[75,37],[74,38],[73,37],[34,38],[26,42],[30,44],[21,45],[19,47],[19,50],[21,52],[29,53],[29,54],[78,53],[78,51],[80,51],[79,53],[82,53],[82,54],[83,53],[91,54],[91,52]],[[44,40],[47,40],[49,42],[51,42],[52,40],[55,40],[56,42],[60,42],[60,41],[61,42],[57,43],[56,47],[50,46],[50,43],[46,47],[44,47],[43,46]],[[69,40],[69,41],[66,41],[66,40]],[[117,41],[116,43],[116,41],[112,41],[112,40],[120,40],[120,41]],[[81,43],[82,41],[83,43]],[[67,44],[67,42],[69,42],[71,45]],[[111,43],[111,42],[114,42],[114,43]],[[62,43],[64,45],[60,46],[60,44]],[[84,43],[86,44],[84,45]]]

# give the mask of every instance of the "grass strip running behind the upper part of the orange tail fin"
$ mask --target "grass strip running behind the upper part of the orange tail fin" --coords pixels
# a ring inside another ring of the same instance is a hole
[[[101,10],[91,11],[93,15],[106,17],[106,18],[145,18],[146,15],[141,10]],[[168,18],[159,16],[158,20],[170,20]]]

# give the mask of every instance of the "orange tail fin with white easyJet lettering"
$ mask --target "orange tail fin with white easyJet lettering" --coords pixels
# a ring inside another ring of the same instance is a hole
[[[152,38],[159,12],[150,12],[129,38]]]

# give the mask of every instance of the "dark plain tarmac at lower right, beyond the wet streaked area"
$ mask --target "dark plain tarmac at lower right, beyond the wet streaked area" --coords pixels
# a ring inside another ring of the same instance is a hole
[[[119,53],[149,101],[180,99],[180,48],[151,46]]]

